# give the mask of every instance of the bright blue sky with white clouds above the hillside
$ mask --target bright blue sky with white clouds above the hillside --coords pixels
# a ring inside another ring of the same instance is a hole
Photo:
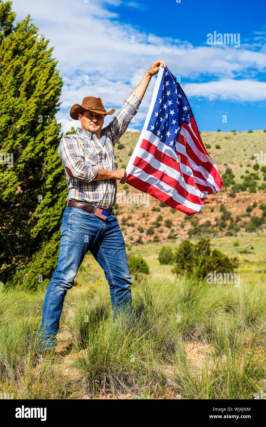
[[[118,112],[159,59],[178,76],[200,131],[266,129],[265,0],[177,1],[13,0],[16,20],[31,15],[54,47],[63,132],[78,127],[69,111],[86,96]],[[142,130],[155,81],[129,130]]]

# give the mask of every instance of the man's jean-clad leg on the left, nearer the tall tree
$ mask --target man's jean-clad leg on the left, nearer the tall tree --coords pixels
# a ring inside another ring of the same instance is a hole
[[[55,348],[59,319],[67,290],[72,288],[85,254],[95,242],[97,229],[90,226],[92,213],[66,208],[62,218],[60,252],[55,273],[47,287],[39,330],[40,350]]]

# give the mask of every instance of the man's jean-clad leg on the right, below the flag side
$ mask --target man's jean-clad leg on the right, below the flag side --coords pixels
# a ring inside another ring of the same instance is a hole
[[[110,286],[114,319],[123,308],[131,313],[131,277],[127,263],[124,238],[115,215],[101,221],[101,235],[90,252],[104,269]]]

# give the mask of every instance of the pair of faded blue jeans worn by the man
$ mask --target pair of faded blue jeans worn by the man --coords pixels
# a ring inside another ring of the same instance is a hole
[[[56,334],[64,298],[67,290],[72,288],[78,268],[88,251],[104,269],[114,316],[121,307],[131,312],[131,277],[124,238],[116,216],[109,214],[104,221],[93,213],[67,207],[61,223],[58,264],[43,303],[39,350],[55,348],[57,344]]]

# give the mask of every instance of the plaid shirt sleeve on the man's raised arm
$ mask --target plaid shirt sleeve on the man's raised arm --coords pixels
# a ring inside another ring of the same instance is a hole
[[[133,119],[139,109],[141,100],[136,95],[130,93],[130,95],[124,100],[124,104],[113,119],[111,123],[104,129],[106,132],[110,132],[113,145],[121,138],[123,133],[127,130],[130,121]]]

